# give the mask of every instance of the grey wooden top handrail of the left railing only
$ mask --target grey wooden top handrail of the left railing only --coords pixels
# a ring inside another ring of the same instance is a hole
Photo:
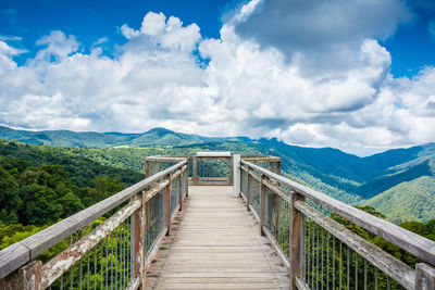
[[[186,163],[187,160],[184,159],[177,164],[0,251],[0,279],[4,278],[73,232],[89,225],[96,218],[104,215],[124,201],[141,192],[151,184],[174,171],[182,168]]]

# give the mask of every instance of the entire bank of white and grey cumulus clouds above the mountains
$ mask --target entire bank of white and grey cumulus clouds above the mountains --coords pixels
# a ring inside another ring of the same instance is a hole
[[[385,11],[389,16],[381,17]],[[259,27],[264,17],[276,26],[271,35]],[[148,12],[140,27],[120,27],[127,41],[113,58],[98,45],[83,53],[74,36],[52,31],[18,66],[20,51],[0,41],[0,123],[100,131],[162,126],[358,153],[433,141],[435,68],[393,78],[390,54],[375,38],[407,17],[396,0],[252,0],[217,39]]]

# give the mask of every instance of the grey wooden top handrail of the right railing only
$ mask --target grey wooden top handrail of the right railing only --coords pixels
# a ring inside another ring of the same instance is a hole
[[[274,174],[263,167],[254,165],[250,162],[241,160],[240,163],[254,171],[260,172],[264,176],[274,179],[281,185],[287,186],[297,193],[311,199],[366,230],[384,238],[385,240],[402,248],[403,250],[414,254],[421,260],[435,265],[435,242],[422,236],[411,232],[405,228],[394,225],[389,222],[375,217],[351,205],[337,201],[326,194],[314,189],[295,182],[284,176]]]

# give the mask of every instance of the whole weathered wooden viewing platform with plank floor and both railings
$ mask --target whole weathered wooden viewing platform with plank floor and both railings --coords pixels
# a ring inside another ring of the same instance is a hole
[[[0,289],[435,289],[434,241],[290,180],[278,157],[145,165],[138,184],[2,250]]]

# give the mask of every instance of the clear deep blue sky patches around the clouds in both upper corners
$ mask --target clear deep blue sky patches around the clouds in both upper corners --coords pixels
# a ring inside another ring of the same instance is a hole
[[[175,15],[186,24],[196,23],[203,37],[217,38],[222,18],[244,2],[247,1],[1,0],[0,36],[22,38],[15,45],[28,53],[16,56],[18,63],[34,56],[38,49],[36,41],[57,29],[74,35],[83,43],[84,51],[89,51],[98,39],[108,38],[104,53],[113,55],[114,45],[125,42],[119,28],[125,23],[132,27],[140,26],[148,11]],[[435,36],[431,38],[428,30],[431,20],[435,20],[435,2],[410,1],[408,7],[412,12],[411,18],[399,25],[391,36],[380,39],[391,53],[391,74],[396,77],[413,76],[422,67],[435,64]]]

